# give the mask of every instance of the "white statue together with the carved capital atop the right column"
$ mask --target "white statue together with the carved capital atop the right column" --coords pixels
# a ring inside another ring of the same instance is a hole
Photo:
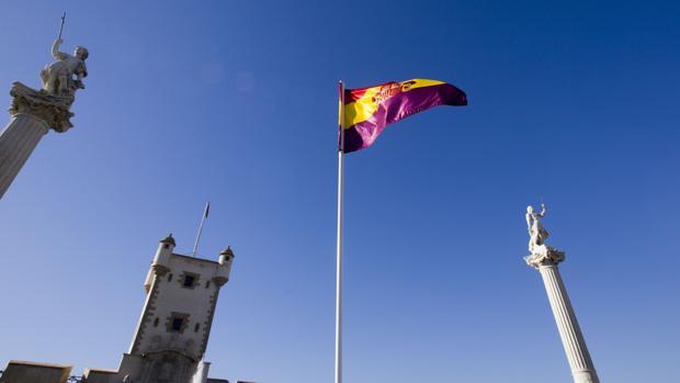
[[[524,257],[526,264],[539,268],[541,266],[557,264],[565,259],[565,252],[547,246],[545,239],[549,236],[541,219],[547,213],[545,204],[541,202],[541,213],[536,213],[532,205],[526,206],[526,229],[529,230],[529,257]]]

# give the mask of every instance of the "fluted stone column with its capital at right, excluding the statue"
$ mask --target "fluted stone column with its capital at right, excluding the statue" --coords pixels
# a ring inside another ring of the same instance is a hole
[[[526,263],[541,272],[545,291],[551,302],[557,330],[571,368],[575,383],[599,383],[594,364],[590,359],[586,340],[576,319],[574,307],[567,295],[567,289],[559,275],[557,264],[565,259],[564,251],[549,246],[540,246],[539,251],[524,258]]]

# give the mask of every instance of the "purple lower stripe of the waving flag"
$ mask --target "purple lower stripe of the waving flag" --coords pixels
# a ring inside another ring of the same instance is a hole
[[[439,105],[467,105],[465,92],[450,83],[416,88],[382,103],[371,119],[344,131],[344,153],[371,146],[385,127]]]

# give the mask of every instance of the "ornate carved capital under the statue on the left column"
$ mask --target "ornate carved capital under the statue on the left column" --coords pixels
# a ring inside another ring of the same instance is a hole
[[[73,116],[70,112],[73,97],[52,95],[45,90],[35,90],[19,81],[12,83],[10,95],[11,115],[21,113],[33,115],[43,120],[57,133],[64,133],[73,126],[70,122],[70,117]]]

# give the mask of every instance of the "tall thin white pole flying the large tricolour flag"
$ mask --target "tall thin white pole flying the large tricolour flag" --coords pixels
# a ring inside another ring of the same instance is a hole
[[[342,202],[344,194],[344,83],[339,82],[340,90],[340,117],[338,129],[340,131],[340,146],[338,147],[338,233],[336,246],[336,383],[342,383]]]

